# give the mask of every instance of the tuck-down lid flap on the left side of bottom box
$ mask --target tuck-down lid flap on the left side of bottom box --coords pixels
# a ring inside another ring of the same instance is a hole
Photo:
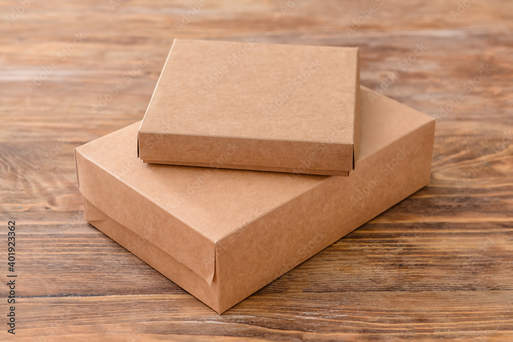
[[[82,155],[80,147],[75,155],[79,189],[95,207],[134,233],[154,242],[207,283],[212,281],[215,246],[210,239],[91,162]]]

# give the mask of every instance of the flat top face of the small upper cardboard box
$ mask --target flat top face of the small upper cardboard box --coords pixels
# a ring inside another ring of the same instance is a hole
[[[353,144],[357,48],[175,39],[141,131]]]

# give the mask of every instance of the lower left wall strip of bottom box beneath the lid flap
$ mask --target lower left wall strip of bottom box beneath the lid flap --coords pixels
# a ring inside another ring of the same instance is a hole
[[[209,286],[203,278],[191,272],[184,264],[176,260],[159,247],[151,244],[145,238],[135,234],[130,229],[117,223],[107,214],[96,208],[84,197],[84,214],[86,220],[109,236],[115,242],[125,247],[146,264],[162,273],[169,279],[200,299],[215,311],[219,312],[218,286],[215,279]]]

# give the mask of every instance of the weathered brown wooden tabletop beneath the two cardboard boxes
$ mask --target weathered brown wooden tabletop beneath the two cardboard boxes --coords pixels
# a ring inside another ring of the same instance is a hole
[[[1,285],[0,340],[513,340],[513,2],[2,0],[0,14],[2,284],[17,275],[16,335]],[[76,187],[73,148],[143,117],[175,37],[359,47],[363,85],[438,117],[430,185],[216,314],[86,223]]]

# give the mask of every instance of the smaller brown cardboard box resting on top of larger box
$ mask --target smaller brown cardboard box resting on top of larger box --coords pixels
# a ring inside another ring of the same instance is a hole
[[[358,48],[175,39],[138,133],[145,163],[347,175]]]

